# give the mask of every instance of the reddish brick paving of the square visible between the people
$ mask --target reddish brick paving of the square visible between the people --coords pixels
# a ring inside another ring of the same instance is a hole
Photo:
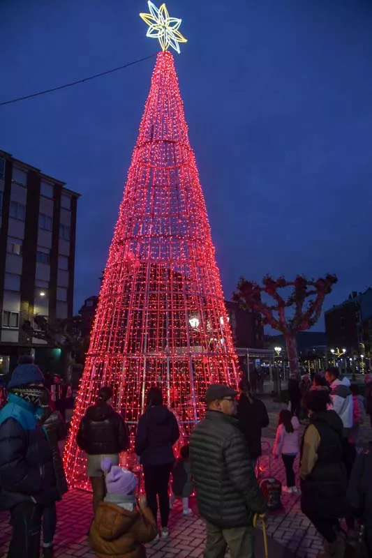
[[[265,429],[265,444],[261,460],[262,476],[269,472],[269,456],[266,455],[272,447],[276,430],[279,405],[270,404],[270,425]],[[369,441],[369,421],[364,425],[361,442]],[[271,460],[272,474],[284,483],[284,470],[281,460]],[[296,460],[298,469],[298,459]],[[322,539],[314,527],[299,509],[299,497],[283,495],[283,510],[269,515],[267,532],[269,535],[269,557],[275,558],[316,558],[322,550]],[[199,558],[204,550],[204,523],[198,517],[195,500],[191,500],[194,515],[184,518],[181,515],[180,504],[175,504],[171,513],[170,538],[157,544],[147,545],[147,555],[151,558]],[[84,557],[93,558],[94,552],[89,549],[87,531],[92,519],[91,495],[80,490],[71,490],[62,502],[57,504],[58,527],[55,544],[56,557]],[[10,538],[8,515],[0,513],[1,532],[0,550],[6,552]],[[0,556],[1,556],[0,552]],[[262,533],[258,530],[257,556],[263,558]]]

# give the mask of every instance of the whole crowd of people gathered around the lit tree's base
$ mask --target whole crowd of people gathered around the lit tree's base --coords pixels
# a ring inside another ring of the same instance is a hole
[[[56,502],[68,490],[59,451],[66,421],[57,405],[59,389],[51,389],[58,384],[48,384],[34,361],[24,357],[6,386],[0,410],[0,509],[10,512],[9,558],[39,558],[41,531],[43,557],[53,557]],[[300,496],[302,512],[325,539],[325,557],[344,556],[343,518],[350,532],[362,526],[359,542],[372,556],[372,452],[356,451],[366,414],[372,425],[370,377],[366,384],[363,398],[337,368],[301,381],[292,375],[288,409],[278,416],[272,453],[283,461],[282,490]],[[135,432],[146,495],[137,498],[138,476],[120,466],[120,454],[130,447],[129,429],[112,406],[112,388],[99,389],[77,432],[93,492],[89,543],[99,558],[144,558],[145,543],[170,536],[176,499],[185,517],[193,514],[194,492],[207,527],[204,558],[223,558],[228,548],[232,558],[255,556],[255,525],[258,519],[265,522],[270,508],[257,478],[269,416],[253,392],[244,380],[239,391],[208,386],[207,412],[186,439],[179,416],[152,386]]]

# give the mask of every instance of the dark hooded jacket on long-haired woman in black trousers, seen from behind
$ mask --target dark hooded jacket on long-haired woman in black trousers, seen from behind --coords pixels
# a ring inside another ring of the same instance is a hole
[[[164,405],[149,407],[140,416],[135,437],[135,453],[142,465],[174,462],[173,445],[179,439],[177,418]]]

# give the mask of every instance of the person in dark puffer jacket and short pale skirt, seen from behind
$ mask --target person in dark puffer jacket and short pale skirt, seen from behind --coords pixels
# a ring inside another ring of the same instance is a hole
[[[88,407],[77,432],[77,445],[88,454],[87,476],[93,490],[94,512],[105,497],[105,478],[101,461],[107,457],[119,465],[119,453],[129,447],[128,429],[124,419],[112,409],[112,389],[102,387],[96,405]]]

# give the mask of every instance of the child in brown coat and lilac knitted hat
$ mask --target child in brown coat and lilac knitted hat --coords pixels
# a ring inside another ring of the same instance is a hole
[[[136,506],[137,479],[108,458],[102,460],[101,467],[107,495],[98,504],[91,525],[91,549],[98,558],[146,558],[144,543],[153,541],[158,531],[146,499],[140,497]]]

